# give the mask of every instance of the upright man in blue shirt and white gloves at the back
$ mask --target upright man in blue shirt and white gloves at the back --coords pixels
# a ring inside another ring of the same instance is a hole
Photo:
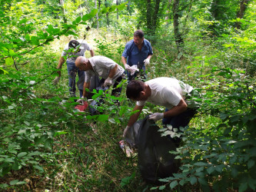
[[[138,70],[144,71],[145,74],[145,65],[149,65],[152,55],[151,44],[144,38],[143,31],[135,31],[133,40],[128,41],[121,55],[121,61],[125,65],[125,70],[128,71],[128,81],[137,76]]]

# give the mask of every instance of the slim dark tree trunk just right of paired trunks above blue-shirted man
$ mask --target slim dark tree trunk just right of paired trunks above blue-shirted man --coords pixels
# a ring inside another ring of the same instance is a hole
[[[175,43],[177,45],[178,52],[180,52],[180,48],[184,45],[183,38],[181,37],[179,28],[178,28],[178,6],[179,6],[179,0],[174,0],[173,5],[173,27],[175,31]]]

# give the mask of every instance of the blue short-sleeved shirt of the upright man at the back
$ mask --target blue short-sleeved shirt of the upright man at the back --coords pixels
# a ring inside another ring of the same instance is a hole
[[[125,45],[125,51],[121,56],[127,58],[127,64],[132,65],[144,65],[144,60],[148,58],[148,55],[153,55],[151,44],[147,39],[144,39],[141,51],[138,50],[138,46],[135,45],[133,40],[128,41]]]

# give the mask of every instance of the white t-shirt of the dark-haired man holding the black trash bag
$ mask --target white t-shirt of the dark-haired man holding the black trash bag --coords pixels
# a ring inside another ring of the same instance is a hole
[[[145,81],[145,84],[148,84],[149,88],[151,88],[151,96],[147,101],[168,109],[177,106],[181,98],[193,90],[189,84],[185,84],[175,78],[154,78]],[[137,101],[136,104],[144,106],[145,102]]]

